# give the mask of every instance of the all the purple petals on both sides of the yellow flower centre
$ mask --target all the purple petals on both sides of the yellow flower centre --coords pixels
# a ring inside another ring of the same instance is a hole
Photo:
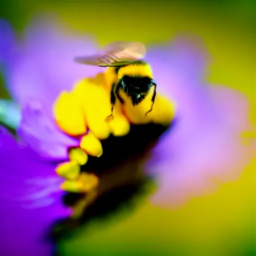
[[[18,139],[4,128],[0,134],[0,200],[5,205],[0,218],[5,221],[2,231],[6,234],[0,246],[3,255],[49,253],[48,245],[35,241],[46,225],[67,214],[60,202],[61,179],[54,168],[67,159],[68,147],[78,145],[53,122],[52,103],[75,80],[101,70],[72,62],[75,55],[97,50],[91,39],[67,35],[61,26],[44,21],[32,22],[19,42],[10,26],[0,21],[4,38],[0,61],[7,87],[21,107]],[[232,180],[241,173],[255,148],[244,145],[239,136],[253,127],[243,95],[204,82],[207,57],[197,43],[180,37],[171,44],[152,47],[146,59],[157,92],[173,98],[178,112],[176,125],[150,151],[144,171],[155,175],[159,183],[153,201],[175,206],[212,191],[216,184],[211,184],[212,179]],[[29,232],[18,238],[15,248],[7,246],[14,233],[23,230]]]

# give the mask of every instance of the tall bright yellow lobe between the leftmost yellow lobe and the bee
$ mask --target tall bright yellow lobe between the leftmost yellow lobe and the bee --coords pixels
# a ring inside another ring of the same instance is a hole
[[[99,139],[109,136],[106,118],[111,113],[110,93],[106,90],[103,74],[86,78],[74,86],[73,92],[82,97],[81,104],[87,126]]]

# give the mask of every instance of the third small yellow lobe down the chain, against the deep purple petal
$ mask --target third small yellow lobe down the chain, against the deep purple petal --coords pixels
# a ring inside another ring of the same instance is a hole
[[[58,164],[55,171],[66,179],[76,179],[80,173],[80,165],[76,161],[64,162]]]

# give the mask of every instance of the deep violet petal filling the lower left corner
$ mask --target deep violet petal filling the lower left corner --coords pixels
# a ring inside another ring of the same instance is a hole
[[[51,255],[44,235],[53,221],[67,216],[54,165],[35,157],[0,128],[1,255]],[[13,246],[13,241],[15,246]]]

